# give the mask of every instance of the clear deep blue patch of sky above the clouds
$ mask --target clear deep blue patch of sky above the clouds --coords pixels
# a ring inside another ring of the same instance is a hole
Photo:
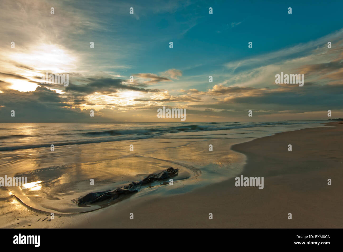
[[[132,57],[121,61],[132,66],[120,72],[128,76],[134,71],[162,72],[170,68],[181,69],[186,76],[206,71],[220,73],[227,62],[306,43],[343,27],[341,1],[322,1],[318,5],[313,1],[203,1],[180,3],[179,7],[175,3],[168,11],[159,8],[158,1],[145,2],[146,6],[140,1],[107,3],[113,5],[107,11],[103,8],[106,3],[94,5],[99,9],[94,16],[104,22],[107,31],[94,31],[85,37],[96,37],[93,40],[97,47],[109,52],[132,44],[133,48],[124,50]],[[130,7],[134,7],[133,15],[127,14]],[[208,7],[213,8],[213,14],[209,14]],[[292,14],[287,13],[288,7],[292,7]],[[169,41],[174,43],[172,50]],[[249,41],[253,42],[252,49],[248,49]]]

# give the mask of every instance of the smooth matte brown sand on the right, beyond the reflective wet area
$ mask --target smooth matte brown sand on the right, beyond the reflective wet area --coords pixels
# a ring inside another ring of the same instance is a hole
[[[235,187],[232,178],[184,194],[128,199],[96,213],[70,217],[63,227],[342,228],[343,123],[327,125],[233,146],[248,157],[241,174],[264,177],[263,190]],[[224,149],[222,144],[216,147]],[[332,185],[327,184],[329,178]]]

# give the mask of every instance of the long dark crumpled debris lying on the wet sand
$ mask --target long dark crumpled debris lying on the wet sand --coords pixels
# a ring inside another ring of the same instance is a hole
[[[167,170],[161,171],[160,173],[157,173],[157,174],[152,173],[139,182],[131,182],[130,184],[125,185],[122,188],[117,188],[114,190],[110,189],[103,192],[91,192],[83,197],[79,197],[78,199],[72,200],[72,202],[75,202],[81,205],[81,204],[86,204],[86,203],[94,203],[98,201],[103,201],[106,199],[115,200],[121,194],[129,194],[129,193],[138,192],[141,188],[141,185],[174,177],[178,174],[178,172],[179,172],[179,169],[174,169],[173,167],[169,167]]]

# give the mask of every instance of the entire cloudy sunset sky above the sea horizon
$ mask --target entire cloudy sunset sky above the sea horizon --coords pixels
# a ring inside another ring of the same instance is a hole
[[[180,121],[157,118],[163,106],[186,109],[186,122],[343,118],[342,8],[2,0],[0,122]],[[46,72],[68,86],[42,82]],[[304,86],[276,84],[281,72],[304,74]]]

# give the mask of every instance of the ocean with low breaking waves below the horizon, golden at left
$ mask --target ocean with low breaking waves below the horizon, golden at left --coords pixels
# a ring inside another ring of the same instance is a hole
[[[282,122],[202,122],[202,123],[0,123],[0,151],[50,148],[55,146],[139,140],[179,136],[180,132],[211,132],[254,128],[239,131],[258,133],[261,127],[308,125],[314,121]],[[281,129],[281,128],[280,128]],[[287,129],[287,128],[285,128]],[[268,133],[268,131],[263,130]],[[283,131],[283,130],[281,130]],[[256,134],[255,134],[256,135]],[[255,136],[254,135],[254,136]],[[227,137],[227,136],[226,136]],[[251,137],[251,136],[249,136]]]

